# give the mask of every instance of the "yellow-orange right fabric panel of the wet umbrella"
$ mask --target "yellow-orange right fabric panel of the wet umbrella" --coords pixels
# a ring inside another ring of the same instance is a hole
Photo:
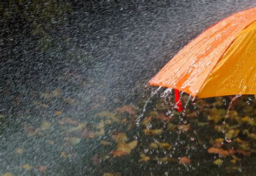
[[[256,22],[238,34],[197,96],[235,94],[256,94]]]

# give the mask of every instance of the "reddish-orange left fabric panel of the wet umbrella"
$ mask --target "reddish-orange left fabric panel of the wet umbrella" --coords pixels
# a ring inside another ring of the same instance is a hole
[[[149,82],[196,96],[234,38],[256,20],[256,8],[221,20],[188,43]]]

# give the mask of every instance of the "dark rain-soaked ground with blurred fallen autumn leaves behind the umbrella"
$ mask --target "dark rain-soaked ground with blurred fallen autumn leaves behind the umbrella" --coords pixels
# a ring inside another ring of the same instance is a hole
[[[191,102],[147,81],[254,1],[0,3],[0,174],[255,175],[255,100]],[[157,89],[157,88],[154,88]],[[170,100],[169,100],[170,99]]]

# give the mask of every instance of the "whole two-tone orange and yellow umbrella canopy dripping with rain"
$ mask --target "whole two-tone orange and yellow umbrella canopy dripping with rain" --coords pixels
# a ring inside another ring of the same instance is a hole
[[[209,27],[149,82],[199,98],[256,94],[256,8]]]

